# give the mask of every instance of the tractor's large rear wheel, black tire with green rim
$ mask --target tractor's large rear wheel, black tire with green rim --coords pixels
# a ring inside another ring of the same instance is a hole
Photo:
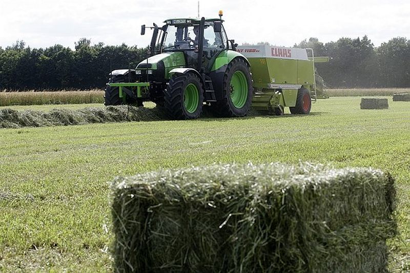
[[[232,60],[222,82],[222,99],[211,105],[222,117],[243,117],[251,109],[253,87],[248,64],[241,58]]]

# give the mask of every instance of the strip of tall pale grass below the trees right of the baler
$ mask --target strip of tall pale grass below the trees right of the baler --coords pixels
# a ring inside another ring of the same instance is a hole
[[[330,97],[393,96],[395,92],[410,92],[410,88],[346,88],[326,89]]]

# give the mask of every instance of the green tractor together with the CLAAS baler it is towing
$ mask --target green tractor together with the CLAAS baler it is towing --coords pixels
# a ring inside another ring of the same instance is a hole
[[[304,49],[237,47],[221,16],[154,24],[151,56],[135,69],[110,73],[105,104],[154,101],[174,119],[197,118],[204,107],[224,117],[245,116],[251,107],[308,114],[311,97],[316,100],[313,57]],[[141,34],[146,28],[141,26]]]

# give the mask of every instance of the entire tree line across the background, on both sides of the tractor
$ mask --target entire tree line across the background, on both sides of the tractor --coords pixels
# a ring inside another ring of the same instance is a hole
[[[295,47],[313,48],[315,56],[331,57],[328,63],[316,65],[328,87],[410,86],[410,40],[405,37],[393,38],[379,47],[367,36],[325,44],[310,38]],[[86,38],[77,41],[74,50],[61,45],[32,49],[17,41],[5,49],[0,47],[0,89],[104,88],[110,71],[135,68],[148,52],[148,47],[125,44],[91,45]]]

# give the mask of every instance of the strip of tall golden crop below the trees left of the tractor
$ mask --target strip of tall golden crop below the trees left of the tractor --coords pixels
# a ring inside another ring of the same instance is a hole
[[[0,92],[0,106],[103,103],[104,91]]]

